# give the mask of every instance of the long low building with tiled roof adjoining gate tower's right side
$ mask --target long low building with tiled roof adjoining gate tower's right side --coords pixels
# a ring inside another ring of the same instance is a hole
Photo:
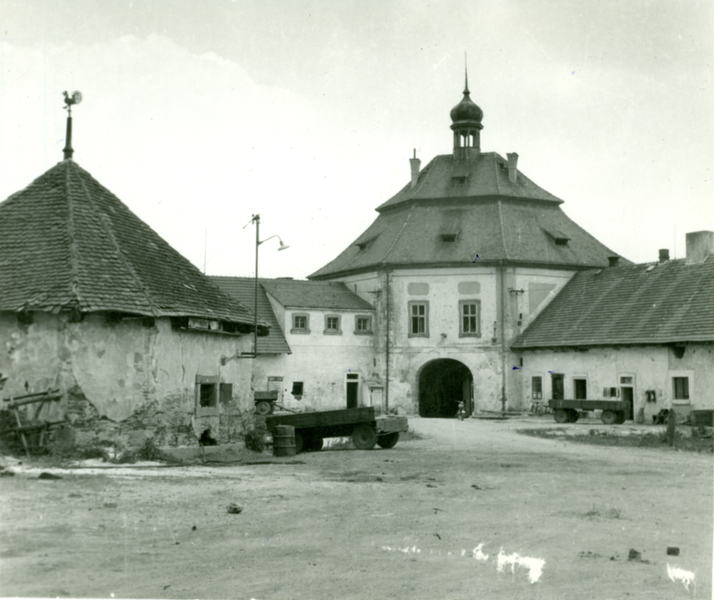
[[[714,233],[687,256],[580,272],[519,336],[523,397],[616,398],[627,418],[714,409]]]

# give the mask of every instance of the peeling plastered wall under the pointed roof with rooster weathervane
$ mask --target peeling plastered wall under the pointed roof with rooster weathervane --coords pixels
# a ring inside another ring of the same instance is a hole
[[[181,427],[200,430],[197,375],[233,384],[231,401],[221,407],[226,418],[214,423],[215,435],[234,420],[230,414],[252,405],[249,362],[222,365],[220,360],[249,351],[249,337],[176,331],[166,318],[145,326],[142,319],[109,323],[88,315],[70,322],[63,314],[38,312],[29,325],[20,324],[14,313],[0,314],[0,340],[0,371],[8,377],[3,395],[58,387],[65,397],[53,408],[58,413],[53,420],[67,416],[78,428],[92,429],[102,421],[116,435],[142,431],[165,442],[181,435]]]

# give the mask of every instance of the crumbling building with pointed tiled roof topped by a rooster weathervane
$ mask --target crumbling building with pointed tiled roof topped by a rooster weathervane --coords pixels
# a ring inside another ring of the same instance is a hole
[[[3,395],[59,388],[45,420],[133,444],[237,435],[252,312],[71,158],[0,204],[0,257]]]

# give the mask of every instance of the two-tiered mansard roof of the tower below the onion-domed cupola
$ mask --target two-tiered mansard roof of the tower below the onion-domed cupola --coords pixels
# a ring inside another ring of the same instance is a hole
[[[372,225],[310,279],[379,268],[509,264],[554,269],[605,267],[618,256],[572,221],[562,200],[507,161],[438,156],[382,204]],[[625,259],[622,262],[628,262]]]

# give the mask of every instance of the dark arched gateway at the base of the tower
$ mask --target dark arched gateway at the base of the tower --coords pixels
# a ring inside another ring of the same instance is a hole
[[[419,373],[419,416],[455,417],[460,401],[470,415],[472,387],[471,371],[458,360],[439,358],[426,363]]]

